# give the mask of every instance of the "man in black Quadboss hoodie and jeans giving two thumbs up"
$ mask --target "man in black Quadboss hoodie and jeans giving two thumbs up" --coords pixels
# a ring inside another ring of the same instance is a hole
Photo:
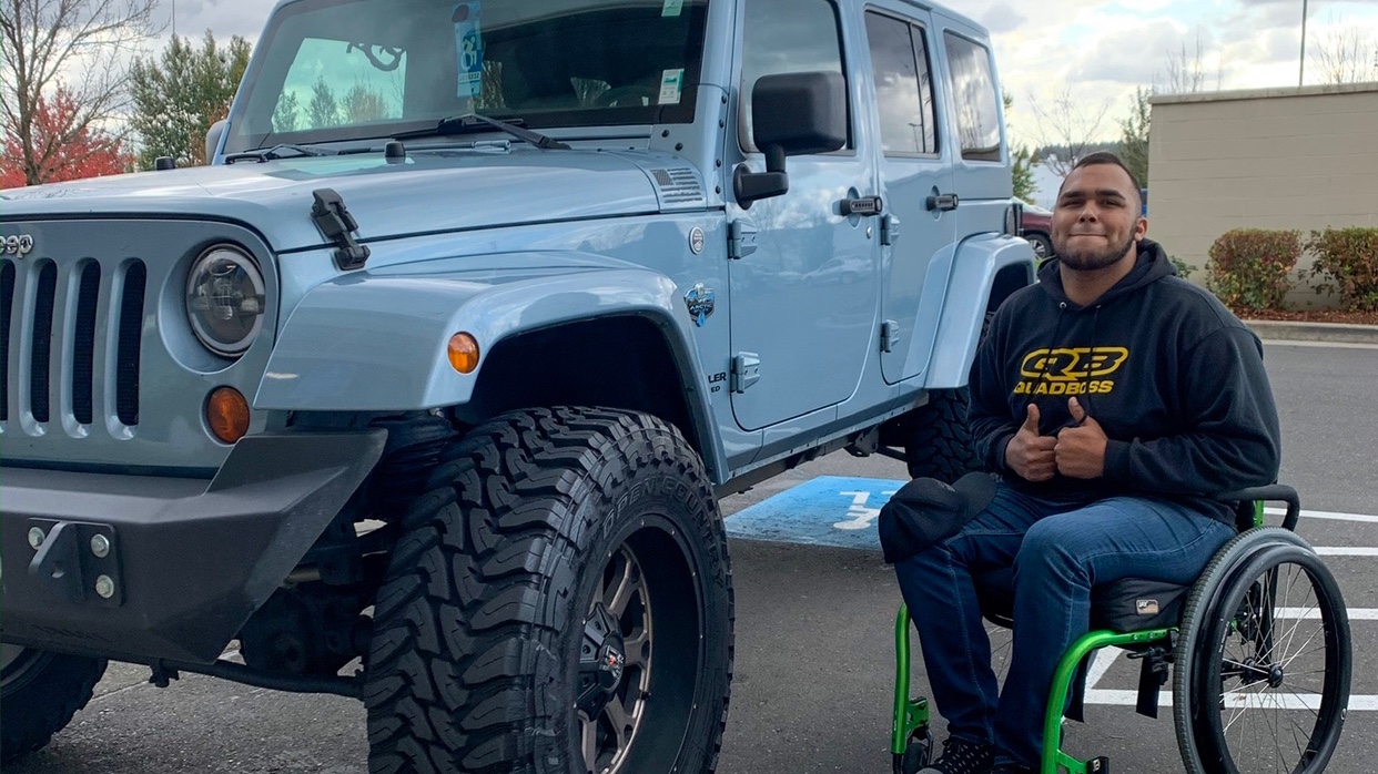
[[[1053,212],[1057,259],[995,313],[970,375],[970,428],[1000,474],[960,530],[896,562],[948,740],[929,774],[1036,771],[1064,651],[1093,587],[1191,584],[1235,536],[1213,496],[1277,477],[1262,346],[1145,240],[1140,187],[1087,156]],[[974,574],[1013,567],[1003,690]]]

